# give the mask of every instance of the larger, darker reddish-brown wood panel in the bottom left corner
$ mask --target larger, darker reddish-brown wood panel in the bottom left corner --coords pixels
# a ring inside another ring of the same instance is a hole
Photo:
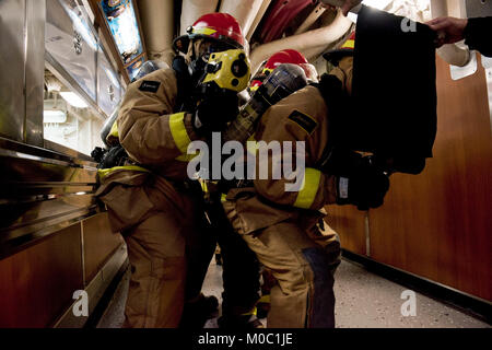
[[[82,290],[80,223],[0,260],[0,328],[47,327]]]

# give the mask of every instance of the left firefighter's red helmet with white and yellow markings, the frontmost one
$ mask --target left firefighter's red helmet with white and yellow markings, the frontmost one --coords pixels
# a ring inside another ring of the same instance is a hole
[[[188,50],[188,44],[194,38],[211,38],[229,44],[234,48],[245,47],[245,38],[239,23],[229,13],[208,13],[186,30],[187,34],[177,37],[173,46],[184,54]]]

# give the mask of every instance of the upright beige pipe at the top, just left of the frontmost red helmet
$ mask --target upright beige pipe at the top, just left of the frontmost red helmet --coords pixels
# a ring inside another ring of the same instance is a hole
[[[174,57],[174,1],[140,0],[139,12],[149,59],[171,66]]]

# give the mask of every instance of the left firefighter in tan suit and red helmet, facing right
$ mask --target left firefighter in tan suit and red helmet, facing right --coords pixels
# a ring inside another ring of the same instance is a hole
[[[203,74],[206,55],[244,45],[241,30],[233,31],[234,18],[212,13],[201,20],[186,43],[192,85]],[[195,110],[188,96],[178,94],[183,79],[176,71],[160,69],[128,86],[108,136],[119,140],[128,159],[99,171],[96,195],[107,206],[113,231],[124,234],[131,264],[127,327],[177,327],[185,302],[200,298],[215,248],[203,232],[201,189],[188,180],[187,148],[225,127],[226,118],[237,115],[237,101],[221,101],[216,110],[216,101],[206,100]]]

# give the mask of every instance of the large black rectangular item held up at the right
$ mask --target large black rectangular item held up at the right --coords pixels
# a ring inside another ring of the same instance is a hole
[[[350,142],[393,172],[419,174],[432,158],[437,96],[435,34],[372,8],[359,13]]]

